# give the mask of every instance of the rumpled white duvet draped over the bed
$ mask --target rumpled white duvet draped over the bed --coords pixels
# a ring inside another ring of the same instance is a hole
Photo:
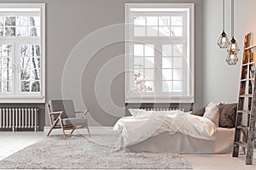
[[[124,145],[137,144],[163,132],[183,133],[197,139],[214,140],[215,124],[202,116],[183,111],[147,111],[137,116],[125,116],[113,127],[121,133]]]

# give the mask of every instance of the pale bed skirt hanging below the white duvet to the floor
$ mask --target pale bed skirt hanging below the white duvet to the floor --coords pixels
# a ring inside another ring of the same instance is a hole
[[[120,135],[117,150],[127,152],[177,152],[177,153],[206,153],[224,154],[233,150],[235,128],[218,127],[215,140],[195,139],[182,133],[160,133],[138,144],[123,146]]]

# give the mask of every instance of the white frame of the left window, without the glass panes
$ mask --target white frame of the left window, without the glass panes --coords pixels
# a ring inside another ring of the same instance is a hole
[[[15,54],[15,80],[13,84],[13,93],[9,94],[1,94],[0,95],[0,103],[45,103],[45,3],[0,3],[0,8],[4,12],[7,8],[7,11],[9,9],[14,8],[20,8],[20,14],[26,14],[25,11],[28,13],[33,12],[34,8],[40,8],[40,17],[41,17],[41,25],[40,25],[40,40],[37,40],[37,37],[18,37],[15,39],[15,42],[12,42],[11,37],[4,37],[0,42],[1,43],[9,43],[12,44],[12,47],[15,48],[15,52],[17,53],[19,51],[19,44],[32,44],[35,42],[39,42],[41,46],[41,86],[40,86],[40,92],[36,93],[20,93],[20,89],[18,89],[19,86],[15,85],[15,83],[19,83],[19,75],[20,73],[17,72],[19,70],[19,62],[20,59],[18,59],[17,54]],[[23,9],[25,11],[23,11]],[[35,10],[37,11],[37,10]],[[7,12],[8,13],[8,12]],[[15,14],[19,14],[19,12],[15,12]],[[34,39],[33,39],[34,38]],[[16,44],[15,44],[16,43]]]

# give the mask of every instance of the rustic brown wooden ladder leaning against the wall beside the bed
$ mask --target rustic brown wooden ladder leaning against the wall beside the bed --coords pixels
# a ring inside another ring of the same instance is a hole
[[[236,132],[233,157],[239,156],[239,146],[246,152],[246,165],[253,164],[256,122],[255,60],[251,48],[251,33],[245,36],[241,65],[240,92],[236,112]]]

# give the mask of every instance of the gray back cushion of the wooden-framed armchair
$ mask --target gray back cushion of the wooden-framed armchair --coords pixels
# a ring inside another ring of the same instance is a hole
[[[75,117],[75,111],[72,99],[53,99],[49,101],[49,109],[51,112],[64,111],[61,118]],[[51,115],[51,119],[55,121],[59,115]]]

